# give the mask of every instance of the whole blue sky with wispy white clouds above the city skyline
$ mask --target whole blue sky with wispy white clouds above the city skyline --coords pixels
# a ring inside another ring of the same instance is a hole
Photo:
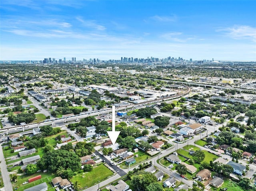
[[[256,61],[255,10],[255,0],[1,0],[0,60]]]

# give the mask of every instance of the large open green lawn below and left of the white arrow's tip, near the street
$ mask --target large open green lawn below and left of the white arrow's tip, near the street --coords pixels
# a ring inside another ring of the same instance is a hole
[[[70,181],[78,181],[82,188],[86,188],[91,187],[92,185],[98,183],[98,181],[102,181],[113,174],[114,173],[110,171],[110,169],[101,164],[94,167],[94,169],[90,172],[82,172],[73,176]]]

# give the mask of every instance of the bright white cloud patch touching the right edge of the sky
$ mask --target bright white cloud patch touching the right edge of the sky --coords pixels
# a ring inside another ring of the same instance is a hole
[[[217,32],[224,32],[226,36],[233,39],[250,39],[256,42],[256,28],[251,26],[233,26],[228,28],[220,28]]]

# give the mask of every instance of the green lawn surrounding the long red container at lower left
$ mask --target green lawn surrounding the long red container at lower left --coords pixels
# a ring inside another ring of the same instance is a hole
[[[28,181],[29,178],[35,177],[37,175],[42,175],[42,178],[39,180],[33,181],[31,183],[22,185],[23,182]],[[30,176],[27,176],[27,175],[18,176],[17,182],[15,183],[15,187],[18,187],[17,191],[23,191],[24,189],[46,182],[46,184],[48,185],[48,191],[54,191],[55,189],[50,184],[50,181],[52,181],[52,179],[56,176],[57,175],[55,175],[54,173],[50,173],[50,172],[43,173],[42,171]]]

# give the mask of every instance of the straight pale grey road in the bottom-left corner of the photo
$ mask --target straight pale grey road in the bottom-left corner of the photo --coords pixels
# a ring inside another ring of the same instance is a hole
[[[9,172],[7,170],[6,161],[4,159],[2,144],[0,144],[0,159],[1,159],[0,167],[1,167],[1,173],[2,173],[2,178],[4,182],[4,189],[8,191],[12,191],[12,183],[9,177]]]

